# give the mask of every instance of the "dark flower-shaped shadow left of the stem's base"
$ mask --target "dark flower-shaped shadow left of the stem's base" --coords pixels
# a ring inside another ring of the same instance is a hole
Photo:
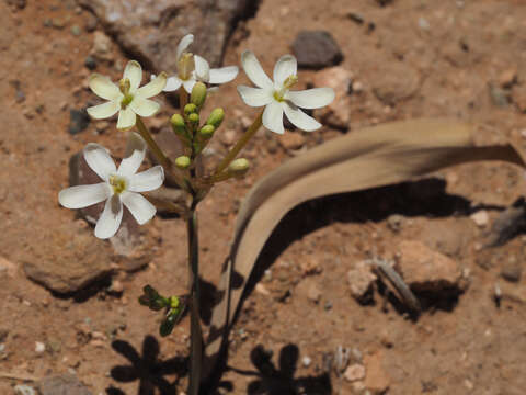
[[[125,357],[129,364],[112,368],[111,376],[121,383],[139,382],[138,395],[171,395],[175,393],[179,380],[187,374],[187,358],[174,357],[162,361],[159,359],[159,342],[148,335],[142,341],[142,354],[132,347],[127,341],[115,340],[112,348]],[[176,374],[174,382],[170,383],[165,375]],[[107,395],[124,395],[125,393],[116,387],[106,390]]]

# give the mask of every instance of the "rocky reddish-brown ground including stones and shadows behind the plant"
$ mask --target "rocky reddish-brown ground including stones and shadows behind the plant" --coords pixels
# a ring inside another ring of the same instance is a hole
[[[149,72],[170,72],[179,40],[193,32],[195,52],[216,66],[239,65],[250,48],[270,71],[294,53],[302,65],[298,88],[336,89],[331,109],[316,113],[321,131],[261,132],[244,154],[249,176],[220,184],[201,206],[203,271],[211,283],[250,187],[324,140],[388,121],[445,116],[472,122],[483,142],[508,138],[526,149],[522,1],[126,4],[0,2],[1,394],[186,387],[188,319],[161,338],[160,316],[137,303],[147,283],[184,293],[184,222],[159,216],[138,229],[127,221],[125,232],[102,241],[57,202],[75,181],[70,168],[79,177],[70,159],[87,143],[124,150],[114,120],[93,122],[83,111],[96,103],[87,84],[92,70],[115,80],[137,58]],[[209,100],[227,113],[209,162],[256,114],[238,98],[238,83],[247,77]],[[175,111],[170,103],[167,97],[148,120],[160,139]],[[524,189],[518,169],[477,163],[295,208],[262,253],[217,393],[523,394],[526,239],[521,202],[508,207]],[[515,227],[492,232],[503,218]],[[420,316],[378,272],[389,262],[415,292]]]

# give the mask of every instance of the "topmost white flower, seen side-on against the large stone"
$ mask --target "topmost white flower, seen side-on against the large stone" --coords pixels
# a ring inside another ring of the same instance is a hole
[[[227,66],[217,69],[210,69],[210,65],[198,55],[187,53],[186,49],[194,42],[194,35],[185,35],[178,45],[175,54],[178,59],[178,74],[169,77],[164,92],[178,90],[181,84],[184,90],[192,93],[195,82],[205,83],[225,83],[233,80],[238,75],[237,66]]]

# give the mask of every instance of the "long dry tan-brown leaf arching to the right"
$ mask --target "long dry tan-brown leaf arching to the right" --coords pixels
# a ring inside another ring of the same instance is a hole
[[[205,349],[205,377],[216,363],[225,328],[232,317],[263,246],[283,216],[310,199],[382,187],[477,160],[503,160],[525,167],[511,145],[477,147],[474,128],[444,120],[395,122],[352,132],[296,157],[258,182],[242,203],[230,261],[219,291]],[[231,272],[243,283],[230,289]],[[226,296],[225,296],[226,295]]]

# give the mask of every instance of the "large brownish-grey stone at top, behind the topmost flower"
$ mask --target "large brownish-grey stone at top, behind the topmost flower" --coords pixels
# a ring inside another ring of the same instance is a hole
[[[191,50],[210,65],[221,63],[235,22],[259,0],[79,0],[122,48],[155,70],[173,72],[179,41],[195,36]]]

